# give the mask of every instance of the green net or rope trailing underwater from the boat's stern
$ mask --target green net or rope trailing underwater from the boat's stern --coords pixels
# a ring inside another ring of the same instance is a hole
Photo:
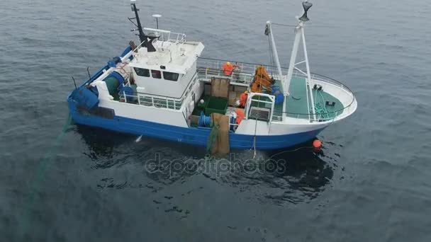
[[[62,140],[65,137],[65,134],[67,133],[67,129],[69,128],[69,125],[72,123],[72,116],[69,114],[67,117],[67,120],[65,122],[65,125],[62,128],[62,132],[57,135],[57,138],[55,139],[54,145],[50,148],[50,150],[47,151],[45,154],[45,157],[42,161],[40,161],[38,167],[35,170],[35,174],[33,176],[32,186],[30,188],[30,192],[28,195],[28,200],[26,202],[26,205],[24,207],[24,218],[21,223],[21,231],[23,236],[23,241],[25,240],[26,232],[28,231],[28,223],[30,220],[30,212],[33,208],[34,202],[35,202],[35,195],[36,190],[38,189],[38,185],[43,182],[45,172],[47,171],[48,164],[52,160],[52,157],[57,154],[57,150],[60,147],[60,144],[62,144]]]

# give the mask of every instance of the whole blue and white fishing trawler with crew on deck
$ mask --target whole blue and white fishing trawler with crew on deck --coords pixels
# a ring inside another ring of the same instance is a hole
[[[123,54],[75,83],[69,112],[77,124],[207,148],[220,137],[233,149],[307,142],[357,109],[347,86],[310,72],[304,28],[311,6],[303,2],[289,68],[282,68],[271,22],[264,34],[274,65],[208,59],[201,57],[203,43],[186,40],[184,33],[158,24],[142,28],[132,0],[135,16],[129,19],[140,44],[129,42]],[[298,62],[301,46],[304,60]]]

